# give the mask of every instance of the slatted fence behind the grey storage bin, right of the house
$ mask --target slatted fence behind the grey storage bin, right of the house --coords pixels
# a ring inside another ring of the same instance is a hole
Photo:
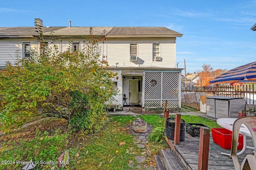
[[[182,105],[200,110],[200,95],[242,97],[247,104],[256,104],[256,85],[208,86],[182,89]]]

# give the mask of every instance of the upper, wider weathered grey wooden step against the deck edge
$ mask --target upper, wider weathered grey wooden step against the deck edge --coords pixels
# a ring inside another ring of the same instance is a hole
[[[173,150],[160,151],[160,157],[166,170],[186,170],[186,167]]]

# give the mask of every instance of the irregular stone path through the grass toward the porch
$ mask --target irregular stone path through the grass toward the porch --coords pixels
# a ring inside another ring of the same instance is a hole
[[[137,118],[137,120],[142,121],[140,118]],[[137,144],[138,148],[144,151],[142,156],[135,156],[137,162],[142,163],[142,166],[144,167],[142,167],[141,165],[137,165],[135,168],[154,170],[154,167],[148,166],[147,164],[143,164],[143,162],[150,155],[150,151],[148,150],[147,140],[148,140],[148,134],[152,132],[153,127],[150,125],[147,125],[145,133],[134,132],[133,126],[131,129],[132,129],[131,134],[134,135],[134,143]],[[133,165],[134,165],[133,162],[129,164],[129,166],[133,166]]]

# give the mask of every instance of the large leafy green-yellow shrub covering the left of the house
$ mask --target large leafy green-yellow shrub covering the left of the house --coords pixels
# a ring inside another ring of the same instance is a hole
[[[108,71],[105,57],[100,60],[98,42],[104,42],[104,33],[94,36],[90,28],[84,48],[73,51],[71,40],[69,50],[60,52],[53,35],[53,49],[44,48],[44,35],[35,24],[41,54],[31,53],[0,71],[1,127],[44,114],[69,119],[72,127],[85,133],[99,130],[108,118],[104,102],[116,95],[112,82],[116,74]]]

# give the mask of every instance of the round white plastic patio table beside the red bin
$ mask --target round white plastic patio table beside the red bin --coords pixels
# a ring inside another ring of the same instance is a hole
[[[234,122],[236,121],[236,119],[238,119],[238,118],[219,118],[219,119],[217,119],[217,124],[223,128],[233,131],[233,125],[234,125]],[[244,124],[241,125],[239,133],[244,135],[243,136],[244,145],[243,145],[242,150],[240,152],[238,152],[237,155],[244,153],[246,148],[254,149],[253,147],[247,146],[246,136],[252,137],[252,135],[251,135],[249,129]],[[221,154],[228,155],[228,156],[231,155],[231,154],[224,153],[224,152],[221,152]]]

